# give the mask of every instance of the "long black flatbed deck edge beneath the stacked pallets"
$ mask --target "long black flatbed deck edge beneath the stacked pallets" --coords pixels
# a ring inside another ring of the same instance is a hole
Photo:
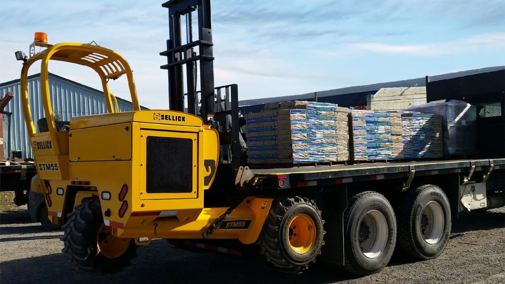
[[[465,173],[472,166],[475,171],[487,171],[491,164],[493,169],[505,169],[505,159],[482,159],[251,169],[251,172],[265,178],[264,186],[268,188],[289,188],[407,177],[411,170],[415,171],[414,176]],[[283,186],[279,186],[279,179],[283,179]]]

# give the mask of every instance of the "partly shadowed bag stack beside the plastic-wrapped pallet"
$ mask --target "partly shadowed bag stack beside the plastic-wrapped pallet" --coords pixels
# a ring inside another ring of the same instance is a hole
[[[442,116],[418,112],[401,113],[402,159],[443,156]]]

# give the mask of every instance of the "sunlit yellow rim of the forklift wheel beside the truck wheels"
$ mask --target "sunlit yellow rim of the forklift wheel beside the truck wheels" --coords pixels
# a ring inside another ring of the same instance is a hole
[[[307,214],[296,215],[289,223],[289,247],[299,254],[309,252],[316,242],[316,224]]]

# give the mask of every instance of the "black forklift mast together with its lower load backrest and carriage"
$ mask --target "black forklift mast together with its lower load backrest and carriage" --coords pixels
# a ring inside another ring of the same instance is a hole
[[[162,7],[168,8],[170,22],[167,50],[160,53],[167,57],[161,69],[168,70],[170,110],[184,112],[187,104],[187,113],[200,116],[216,128],[221,148],[219,164],[229,164],[236,172],[246,148],[239,133],[238,86],[214,87],[211,0],[170,0]],[[193,33],[198,37],[193,38]]]

